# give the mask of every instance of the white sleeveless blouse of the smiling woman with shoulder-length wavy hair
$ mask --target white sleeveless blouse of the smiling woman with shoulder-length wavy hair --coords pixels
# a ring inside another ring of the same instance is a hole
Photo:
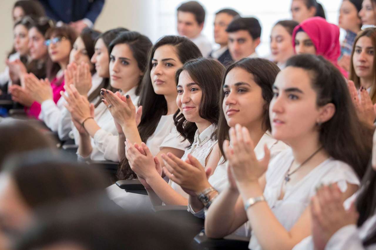
[[[205,167],[206,166],[206,159],[208,158],[209,154],[211,153],[213,147],[218,142],[217,140],[211,139],[211,135],[215,132],[216,127],[214,124],[207,127],[202,133],[200,134],[199,130],[196,130],[196,134],[194,135],[194,141],[190,148],[187,148],[182,156],[182,160],[185,161],[188,158],[188,154],[191,154],[195,157],[200,164]],[[173,181],[169,181],[168,184],[181,196],[188,199],[189,195],[183,191],[179,184],[176,184]]]

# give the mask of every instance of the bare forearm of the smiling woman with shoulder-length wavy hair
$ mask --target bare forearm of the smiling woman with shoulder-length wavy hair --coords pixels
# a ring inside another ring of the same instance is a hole
[[[177,193],[161,176],[147,178],[146,182],[166,205],[188,205],[188,199]]]

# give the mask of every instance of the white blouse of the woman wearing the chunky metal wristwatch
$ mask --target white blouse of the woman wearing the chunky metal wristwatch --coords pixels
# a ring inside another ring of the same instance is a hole
[[[288,146],[283,143],[282,141],[278,141],[271,137],[270,133],[265,133],[259,142],[257,143],[255,147],[255,154],[257,159],[261,160],[264,158],[264,145],[268,146],[268,149],[270,150],[270,158],[273,159],[276,155],[278,155],[281,151],[284,151],[288,148]],[[228,185],[228,178],[227,178],[227,161],[224,161],[224,157],[222,156],[219,160],[217,168],[214,170],[214,173],[209,177],[208,179],[210,185],[215,188],[215,190],[218,191],[218,193],[221,193]],[[200,218],[205,218],[205,214],[207,212],[207,209],[204,208],[198,212],[194,212],[194,210],[191,208],[190,205],[188,205],[188,211],[193,213],[195,216]],[[249,235],[249,233],[246,232],[247,227],[241,227],[243,230],[238,230],[238,235]]]

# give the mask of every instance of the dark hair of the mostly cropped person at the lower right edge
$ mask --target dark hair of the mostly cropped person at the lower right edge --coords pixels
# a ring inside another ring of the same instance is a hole
[[[361,189],[356,197],[356,210],[359,212],[357,226],[361,227],[365,221],[376,213],[376,171],[369,161],[367,172],[361,182]],[[371,229],[364,239],[364,246],[376,243],[376,227]]]

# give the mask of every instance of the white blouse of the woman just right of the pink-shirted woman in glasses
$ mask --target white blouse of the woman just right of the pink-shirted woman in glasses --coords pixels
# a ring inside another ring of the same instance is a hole
[[[62,72],[60,74],[62,74]],[[102,78],[99,77],[97,73],[94,74],[92,76],[92,86],[88,94],[98,87],[101,81]],[[68,93],[65,91],[64,95],[68,95]],[[56,104],[52,99],[46,100],[41,104],[41,113],[39,113],[38,118],[43,120],[45,125],[53,132],[58,132],[59,127],[65,127],[69,128],[69,131],[71,130],[71,116],[64,106],[66,103],[67,101],[61,97]]]

